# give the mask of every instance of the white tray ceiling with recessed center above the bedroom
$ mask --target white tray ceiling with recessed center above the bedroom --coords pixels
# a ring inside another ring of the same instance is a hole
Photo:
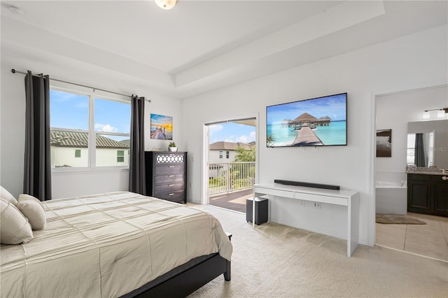
[[[185,98],[447,24],[447,3],[2,0],[1,50]]]

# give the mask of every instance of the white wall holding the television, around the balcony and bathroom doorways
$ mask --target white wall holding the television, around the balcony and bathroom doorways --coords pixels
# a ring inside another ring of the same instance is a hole
[[[193,185],[189,201],[199,203],[202,199],[203,125],[258,117],[259,183],[301,180],[358,190],[360,242],[372,245],[375,94],[447,84],[447,35],[447,26],[437,27],[186,99],[186,146],[190,157],[197,161],[190,162],[188,169]],[[304,149],[262,145],[266,138],[266,106],[341,92],[348,92],[348,146]],[[202,113],[195,113],[199,106]],[[333,220],[340,216],[337,206],[323,205],[321,210],[314,210],[275,199],[271,208],[272,221],[344,236],[338,232],[344,223],[335,224]]]

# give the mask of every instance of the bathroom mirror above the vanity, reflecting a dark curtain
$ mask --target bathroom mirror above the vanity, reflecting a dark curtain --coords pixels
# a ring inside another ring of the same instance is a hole
[[[407,123],[407,164],[448,168],[448,120]]]

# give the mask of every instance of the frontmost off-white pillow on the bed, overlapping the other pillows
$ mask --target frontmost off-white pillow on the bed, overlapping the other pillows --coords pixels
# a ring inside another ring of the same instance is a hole
[[[0,243],[26,243],[32,238],[33,231],[27,218],[9,201],[0,199]]]

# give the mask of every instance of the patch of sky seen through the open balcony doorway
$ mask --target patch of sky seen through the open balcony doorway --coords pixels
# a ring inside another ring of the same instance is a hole
[[[209,126],[210,143],[219,141],[250,143],[255,141],[255,127],[225,122]]]

